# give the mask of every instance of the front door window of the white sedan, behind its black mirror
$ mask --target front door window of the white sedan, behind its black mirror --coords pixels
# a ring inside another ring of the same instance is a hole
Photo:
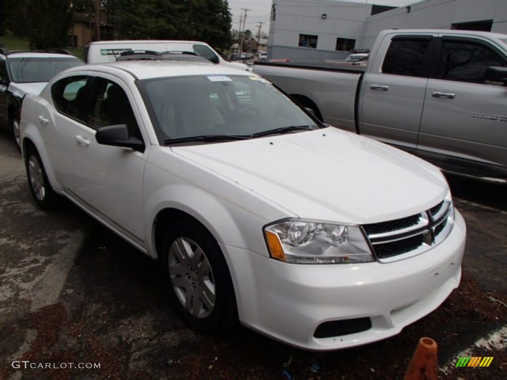
[[[94,79],[87,120],[94,129],[125,124],[129,136],[141,138],[134,111],[125,90],[108,79],[100,77]]]

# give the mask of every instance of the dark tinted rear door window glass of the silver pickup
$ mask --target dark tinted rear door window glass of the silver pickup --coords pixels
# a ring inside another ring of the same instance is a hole
[[[384,74],[424,77],[424,61],[431,37],[395,38],[392,39],[384,63]]]

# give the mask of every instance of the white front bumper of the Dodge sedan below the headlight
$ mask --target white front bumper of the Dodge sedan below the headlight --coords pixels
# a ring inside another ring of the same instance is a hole
[[[450,235],[433,249],[390,263],[287,264],[222,245],[240,321],[308,350],[364,345],[399,333],[448,297],[461,279],[466,226],[456,210]],[[369,318],[371,328],[317,338],[323,322]]]

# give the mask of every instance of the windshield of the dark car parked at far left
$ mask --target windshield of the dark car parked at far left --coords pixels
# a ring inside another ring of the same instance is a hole
[[[49,82],[60,71],[82,64],[81,60],[72,56],[9,58],[15,83]]]

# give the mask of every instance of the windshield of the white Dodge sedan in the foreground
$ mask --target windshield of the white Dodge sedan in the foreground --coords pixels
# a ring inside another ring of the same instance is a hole
[[[291,132],[319,128],[271,83],[253,75],[162,78],[139,81],[139,87],[161,144],[193,136],[260,137],[288,127],[298,127]]]

